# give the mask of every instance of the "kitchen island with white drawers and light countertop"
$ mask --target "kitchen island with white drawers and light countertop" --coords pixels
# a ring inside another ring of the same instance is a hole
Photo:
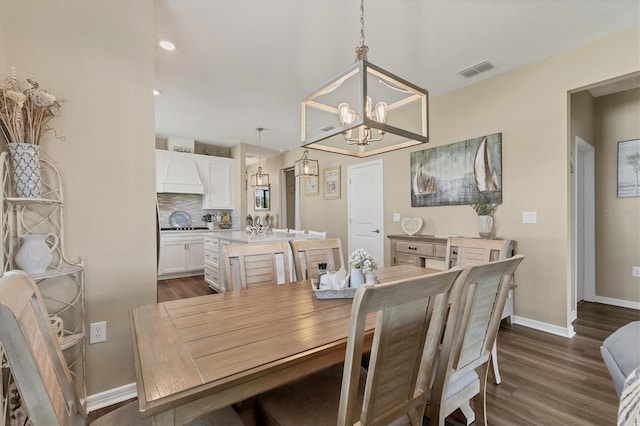
[[[318,238],[314,235],[293,234],[287,232],[267,231],[261,234],[252,234],[246,231],[218,231],[209,232],[204,235],[204,280],[213,290],[224,293],[233,290],[229,287],[224,269],[224,252],[222,246],[225,244],[259,244],[274,241],[308,240]],[[291,253],[289,253],[290,274],[295,280]],[[280,266],[280,264],[279,264]],[[282,271],[278,275],[284,274],[284,262]]]

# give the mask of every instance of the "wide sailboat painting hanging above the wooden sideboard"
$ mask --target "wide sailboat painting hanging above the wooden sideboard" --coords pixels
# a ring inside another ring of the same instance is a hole
[[[502,133],[411,153],[411,206],[502,203]]]

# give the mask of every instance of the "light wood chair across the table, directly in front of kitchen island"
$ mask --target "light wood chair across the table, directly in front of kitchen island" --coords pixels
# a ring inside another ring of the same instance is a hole
[[[233,290],[290,282],[289,245],[286,241],[223,245],[227,286]],[[278,274],[278,257],[284,269]],[[234,281],[235,278],[235,281]]]

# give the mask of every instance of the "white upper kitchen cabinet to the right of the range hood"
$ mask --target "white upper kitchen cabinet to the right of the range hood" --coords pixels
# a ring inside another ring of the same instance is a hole
[[[233,159],[198,155],[203,209],[233,209]]]

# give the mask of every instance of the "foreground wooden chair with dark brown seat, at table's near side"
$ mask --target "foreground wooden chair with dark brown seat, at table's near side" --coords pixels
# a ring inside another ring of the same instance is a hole
[[[460,272],[360,286],[344,364],[262,394],[266,424],[422,425],[449,290]],[[371,313],[377,318],[367,371],[361,359]]]

